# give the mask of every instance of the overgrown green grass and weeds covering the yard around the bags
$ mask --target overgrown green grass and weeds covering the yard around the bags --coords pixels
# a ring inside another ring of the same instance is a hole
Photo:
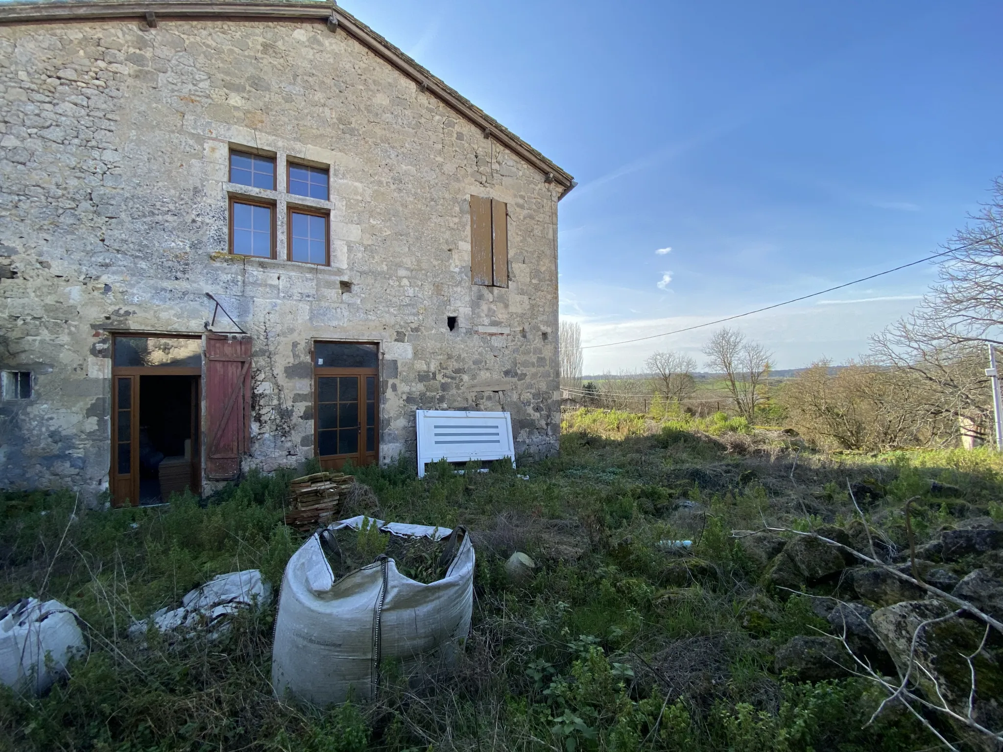
[[[808,599],[760,588],[729,533],[763,520],[846,521],[847,481],[870,480],[886,492],[868,510],[872,524],[904,540],[909,495],[921,495],[915,519],[926,531],[961,505],[995,508],[996,456],[802,452],[794,466],[782,442],[739,451],[723,440],[750,435],[726,417],[661,427],[578,411],[565,429],[560,456],[521,462],[518,474],[501,462],[463,475],[440,463],[424,479],[406,461],[353,470],[373,493],[353,511],[464,524],[477,551],[472,634],[454,671],[405,677],[386,666],[378,700],[361,706],[275,700],[274,607],[242,615],[215,642],[124,637],[132,620],[217,574],[260,568],[278,583],[302,541],[281,522],[292,471],[151,509],[90,511],[70,491],[2,495],[0,597],[44,595],[77,609],[90,650],[47,697],[0,694],[0,740],[122,752],[933,746],[906,716],[864,729],[879,698],[859,680],[792,685],[772,673],[778,645],[825,623]],[[937,495],[931,480],[958,495]],[[661,541],[674,539],[694,545],[665,552]],[[505,576],[515,550],[540,565],[522,586]]]

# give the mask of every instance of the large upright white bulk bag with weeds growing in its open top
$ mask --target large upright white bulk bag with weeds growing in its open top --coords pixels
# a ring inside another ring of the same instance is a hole
[[[330,529],[358,529],[352,517]],[[374,520],[379,529],[405,537],[437,540],[453,531]],[[438,651],[448,661],[466,639],[473,611],[473,545],[455,531],[456,553],[445,577],[424,585],[397,572],[392,558],[376,561],[335,582],[315,533],[296,551],[282,579],[272,651],[272,686],[314,703],[343,703],[349,692],[368,700],[379,684],[380,663],[403,661],[405,670],[422,654]]]

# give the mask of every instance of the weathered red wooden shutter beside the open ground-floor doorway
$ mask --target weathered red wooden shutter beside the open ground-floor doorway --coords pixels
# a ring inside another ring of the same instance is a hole
[[[206,418],[206,474],[233,480],[251,443],[250,337],[207,335]]]

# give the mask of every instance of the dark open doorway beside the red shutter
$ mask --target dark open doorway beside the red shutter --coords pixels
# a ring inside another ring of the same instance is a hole
[[[197,488],[198,377],[139,377],[139,503]]]

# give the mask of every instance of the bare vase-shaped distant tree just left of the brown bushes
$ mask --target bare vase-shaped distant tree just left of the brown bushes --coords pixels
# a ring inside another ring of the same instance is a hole
[[[707,356],[707,367],[724,375],[735,410],[752,423],[756,407],[766,401],[772,354],[758,342],[747,340],[741,332],[727,327],[711,335],[703,354]]]

